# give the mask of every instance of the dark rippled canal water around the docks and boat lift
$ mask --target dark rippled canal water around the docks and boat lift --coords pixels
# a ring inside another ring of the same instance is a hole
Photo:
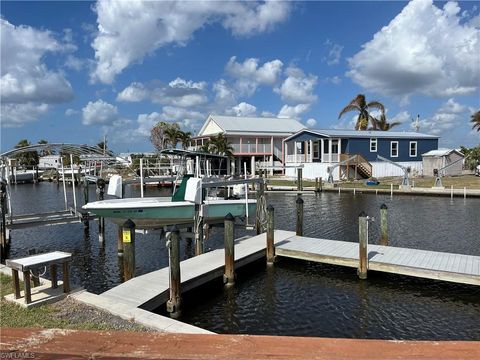
[[[62,187],[53,183],[13,187],[16,214],[62,209]],[[132,194],[136,194],[132,189]],[[149,189],[147,196],[169,195]],[[69,202],[72,203],[71,188]],[[94,188],[90,198],[94,199]],[[398,247],[480,256],[480,199],[322,193],[305,195],[306,236],[358,241],[358,214],[375,217],[369,242],[378,243],[379,208],[389,211],[390,244]],[[77,201],[83,195],[77,191]],[[268,194],[275,227],[295,229],[295,194]],[[73,254],[73,282],[101,293],[122,281],[117,227],[106,222],[98,241],[96,222],[15,230],[11,257],[62,250]],[[237,230],[236,235],[247,234]],[[207,249],[223,246],[222,229],[213,229]],[[187,257],[193,249],[183,242]],[[161,234],[137,235],[136,275],[168,265]],[[159,309],[162,312],[163,309]],[[398,275],[369,272],[360,281],[355,269],[283,260],[260,262],[238,273],[231,289],[221,281],[185,296],[182,321],[219,333],[384,339],[480,340],[480,289]]]

